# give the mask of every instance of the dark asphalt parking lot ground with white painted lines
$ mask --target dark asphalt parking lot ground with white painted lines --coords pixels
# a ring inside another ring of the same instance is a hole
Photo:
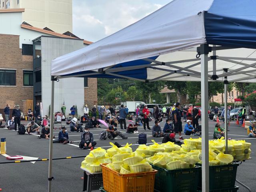
[[[165,121],[165,120],[164,120]],[[27,122],[22,122],[26,126]],[[160,126],[163,128],[165,122],[161,122]],[[64,122],[63,122],[64,124]],[[200,124],[200,122],[199,122]],[[212,139],[214,132],[214,124],[209,119],[209,139]],[[128,125],[128,122],[127,122]],[[150,122],[150,127],[154,125],[154,122]],[[55,124],[57,130],[54,130],[54,135],[58,137],[58,128],[60,124]],[[224,126],[224,125],[223,125]],[[69,126],[66,126],[69,131]],[[183,123],[184,127],[184,123]],[[251,146],[251,160],[247,160],[238,166],[237,179],[251,188],[252,191],[256,191],[256,164],[254,159],[256,158],[256,140],[254,138],[248,138],[247,131],[236,125],[235,122],[230,122],[230,131],[228,137],[236,140],[246,140],[246,142],[252,143]],[[98,134],[104,130],[103,128],[94,128],[90,132],[94,134],[94,140],[97,142],[96,147],[102,147],[108,149],[111,147],[109,142],[111,140],[98,140]],[[118,125],[118,130],[120,126]],[[161,143],[162,138],[152,138],[150,130],[143,130],[143,126],[138,127],[139,132],[145,132],[148,135],[148,144],[152,143],[152,139]],[[89,150],[81,150],[78,148],[80,142],[80,132],[68,133],[70,140],[74,141],[73,144],[53,144],[53,158],[61,158],[67,156],[82,156],[89,154]],[[112,142],[118,142],[121,145],[125,145],[127,142],[132,144],[132,149],[136,150],[138,145],[138,134],[124,133],[128,139],[123,140],[115,138]],[[198,138],[198,136],[184,136],[183,138]],[[22,155],[36,157],[39,159],[48,158],[49,156],[49,140],[38,139],[38,135],[17,135],[17,132],[12,130],[6,130],[0,128],[0,138],[6,138],[6,148],[9,156]],[[176,135],[176,140],[178,139]],[[83,180],[80,179],[83,176],[83,170],[80,169],[81,162],[84,158],[54,160],[52,166],[52,175],[55,180],[52,181],[53,192],[82,192]],[[6,162],[6,157],[0,155],[0,162]],[[237,186],[240,186],[236,183]],[[12,163],[12,164],[0,164],[0,188],[3,192],[46,192],[48,191],[48,161],[25,163]],[[247,192],[245,188],[240,186],[239,192]]]

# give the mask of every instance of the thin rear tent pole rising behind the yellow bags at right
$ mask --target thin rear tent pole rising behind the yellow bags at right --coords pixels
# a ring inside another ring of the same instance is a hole
[[[223,69],[228,72],[228,69]],[[228,153],[228,77],[224,78],[225,152]]]

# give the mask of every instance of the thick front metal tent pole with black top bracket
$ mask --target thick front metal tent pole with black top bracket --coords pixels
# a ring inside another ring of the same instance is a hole
[[[208,53],[208,44],[200,45],[202,106],[202,192],[209,191]]]

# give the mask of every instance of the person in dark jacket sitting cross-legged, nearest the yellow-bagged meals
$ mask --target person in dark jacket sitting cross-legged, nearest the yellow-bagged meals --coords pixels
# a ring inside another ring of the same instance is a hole
[[[79,148],[93,150],[96,144],[97,143],[93,140],[93,134],[90,132],[90,129],[85,126],[84,132],[82,133],[82,136],[81,136],[81,142],[79,144]]]

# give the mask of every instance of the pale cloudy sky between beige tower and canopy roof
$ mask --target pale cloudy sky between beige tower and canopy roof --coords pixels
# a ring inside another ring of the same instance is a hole
[[[172,0],[73,0],[73,33],[96,42]]]

